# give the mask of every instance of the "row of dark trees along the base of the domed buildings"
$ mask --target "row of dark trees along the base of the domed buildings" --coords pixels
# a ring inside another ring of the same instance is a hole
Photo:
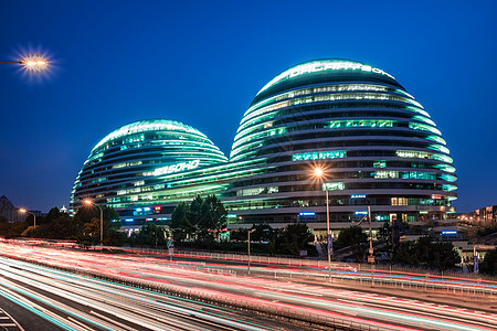
[[[251,228],[226,229],[226,215],[222,202],[215,195],[193,199],[190,203],[180,203],[171,214],[168,227],[147,223],[139,232],[127,237],[120,231],[118,213],[103,206],[104,245],[148,246],[166,248],[175,243],[182,248],[246,252],[248,232],[251,232],[252,252],[267,255],[317,255],[313,244],[315,236],[305,223],[287,224],[273,228],[268,224],[252,225]],[[82,207],[74,216],[53,207],[45,216],[36,217],[33,226],[30,214],[24,222],[8,223],[0,216],[0,236],[35,237],[47,239],[74,239],[81,245],[96,245],[101,237],[99,210]],[[326,254],[326,238],[321,242]],[[452,243],[434,242],[430,237],[404,242],[399,247],[391,243],[391,227],[385,223],[377,234],[376,253],[384,252],[390,263],[398,265],[422,266],[445,270],[461,261],[461,256]],[[360,226],[352,225],[340,231],[334,241],[334,250],[347,250],[353,261],[364,261],[367,257],[368,235]],[[497,249],[487,252],[479,265],[480,273],[497,275]]]

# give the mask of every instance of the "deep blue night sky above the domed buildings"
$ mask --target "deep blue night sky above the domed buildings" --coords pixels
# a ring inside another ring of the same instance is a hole
[[[436,4],[434,4],[436,3]],[[0,67],[0,195],[67,205],[91,149],[139,119],[191,125],[228,156],[255,94],[300,62],[392,74],[451,149],[459,212],[497,204],[495,1],[8,1],[0,61],[41,47],[43,79]]]

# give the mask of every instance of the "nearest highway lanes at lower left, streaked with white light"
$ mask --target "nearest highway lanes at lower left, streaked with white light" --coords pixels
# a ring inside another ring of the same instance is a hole
[[[0,259],[0,295],[65,330],[293,330],[239,311]],[[265,325],[266,324],[266,325]]]

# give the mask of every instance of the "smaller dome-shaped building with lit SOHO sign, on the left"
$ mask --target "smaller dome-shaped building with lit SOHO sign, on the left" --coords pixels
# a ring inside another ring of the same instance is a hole
[[[133,213],[121,216],[151,214],[148,205],[169,202],[169,179],[226,161],[205,135],[188,125],[165,119],[136,121],[114,130],[93,148],[74,183],[71,205],[77,209],[83,199],[92,197],[118,210],[133,207]]]

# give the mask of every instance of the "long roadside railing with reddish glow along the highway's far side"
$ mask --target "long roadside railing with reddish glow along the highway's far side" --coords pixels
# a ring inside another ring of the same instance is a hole
[[[149,254],[168,255],[168,250],[150,248],[129,248]],[[222,254],[194,250],[177,250],[176,256],[208,258],[220,260],[232,260],[248,263],[248,255],[244,254]],[[316,268],[314,273],[306,270],[298,271],[264,271],[252,268],[252,274],[266,277],[307,278],[314,280],[329,281],[328,261],[299,259],[288,257],[251,256],[251,264],[281,265],[287,267]],[[320,270],[319,270],[320,269]],[[209,270],[208,270],[209,271]],[[218,273],[228,273],[220,269]],[[235,271],[230,271],[235,274]],[[438,291],[450,293],[461,293],[467,296],[495,296],[497,295],[497,278],[482,277],[475,274],[437,273],[422,268],[403,268],[396,266],[374,265],[374,277],[371,280],[371,265],[369,264],[331,264],[331,277],[335,281],[360,282],[388,288]],[[468,276],[468,277],[462,277]]]

